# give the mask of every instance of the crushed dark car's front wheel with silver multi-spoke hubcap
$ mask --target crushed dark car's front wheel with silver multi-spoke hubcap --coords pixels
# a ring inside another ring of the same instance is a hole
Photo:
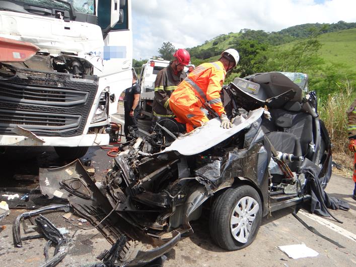
[[[255,239],[261,219],[261,199],[253,187],[229,188],[212,205],[210,235],[218,246],[226,250],[242,249]]]

